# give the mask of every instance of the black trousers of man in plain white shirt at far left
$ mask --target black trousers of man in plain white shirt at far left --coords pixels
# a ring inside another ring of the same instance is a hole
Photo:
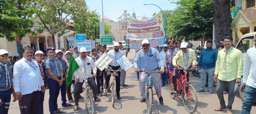
[[[38,114],[40,105],[40,91],[22,95],[19,100],[21,114]]]

